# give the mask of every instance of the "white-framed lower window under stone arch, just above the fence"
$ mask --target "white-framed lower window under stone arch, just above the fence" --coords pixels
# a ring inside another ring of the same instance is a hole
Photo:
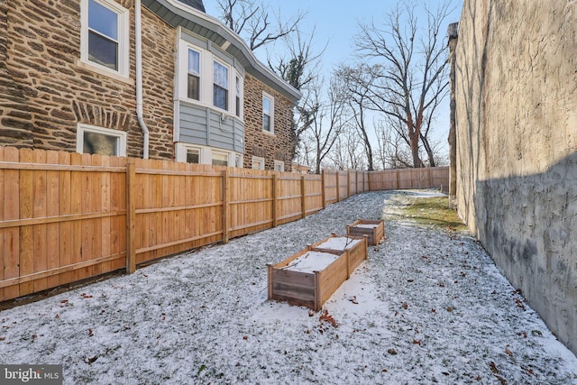
[[[76,151],[126,156],[126,133],[93,125],[78,124]]]

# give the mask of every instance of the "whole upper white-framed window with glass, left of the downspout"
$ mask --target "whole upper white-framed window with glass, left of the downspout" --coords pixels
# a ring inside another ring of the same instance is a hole
[[[80,59],[128,77],[128,10],[112,0],[82,0]]]

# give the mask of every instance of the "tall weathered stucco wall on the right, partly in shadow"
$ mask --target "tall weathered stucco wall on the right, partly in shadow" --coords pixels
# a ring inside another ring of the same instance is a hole
[[[577,353],[577,1],[464,0],[457,204]]]

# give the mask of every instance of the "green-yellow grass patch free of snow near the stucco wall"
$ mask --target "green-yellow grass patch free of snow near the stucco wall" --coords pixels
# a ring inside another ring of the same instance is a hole
[[[449,208],[449,197],[411,197],[401,210],[402,215],[419,224],[467,230],[457,212]]]

